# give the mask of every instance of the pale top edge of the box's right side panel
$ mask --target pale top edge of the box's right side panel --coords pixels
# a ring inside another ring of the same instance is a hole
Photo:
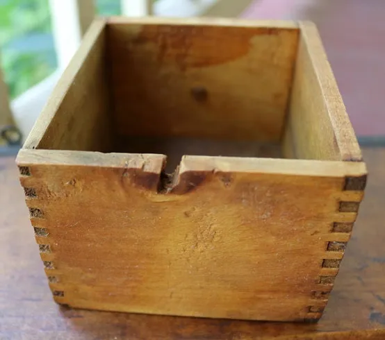
[[[341,153],[341,160],[362,161],[361,149],[347,115],[336,78],[327,59],[316,25],[312,22],[299,22],[301,35],[309,58],[313,63],[320,88],[325,99],[329,119],[336,136],[336,143]]]

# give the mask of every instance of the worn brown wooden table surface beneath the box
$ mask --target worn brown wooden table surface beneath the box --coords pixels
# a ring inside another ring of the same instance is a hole
[[[0,339],[385,339],[385,148],[365,148],[369,180],[319,323],[92,312],[51,298],[13,158],[0,158]]]

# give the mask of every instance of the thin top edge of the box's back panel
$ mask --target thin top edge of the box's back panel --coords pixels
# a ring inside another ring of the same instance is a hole
[[[177,25],[177,26],[229,26],[229,27],[265,27],[298,30],[299,24],[290,20],[251,20],[218,17],[108,17],[107,25]]]

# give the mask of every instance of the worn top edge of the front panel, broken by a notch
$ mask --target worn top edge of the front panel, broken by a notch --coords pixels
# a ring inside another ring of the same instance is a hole
[[[140,153],[100,153],[94,151],[59,151],[20,149],[16,162],[22,164],[60,164],[88,167],[122,167],[127,159],[141,167],[143,157],[165,162],[166,155]],[[136,162],[138,162],[138,165]],[[156,172],[159,167],[156,168]],[[155,171],[155,170],[154,170]],[[188,171],[271,173],[293,176],[345,177],[363,176],[367,170],[364,162],[325,160],[290,160],[279,158],[241,158],[185,155],[179,165],[179,173]],[[359,190],[361,191],[361,190]]]

